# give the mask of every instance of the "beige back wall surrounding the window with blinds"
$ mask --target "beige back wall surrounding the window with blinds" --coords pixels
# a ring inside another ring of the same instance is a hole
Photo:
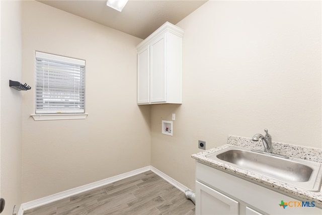
[[[150,165],[149,107],[136,105],[142,40],[23,1],[23,202]],[[34,121],[35,50],[86,60],[85,120]]]

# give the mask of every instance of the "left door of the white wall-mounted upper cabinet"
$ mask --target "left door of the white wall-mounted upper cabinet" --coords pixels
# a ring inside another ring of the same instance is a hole
[[[137,103],[149,103],[149,46],[137,53]]]

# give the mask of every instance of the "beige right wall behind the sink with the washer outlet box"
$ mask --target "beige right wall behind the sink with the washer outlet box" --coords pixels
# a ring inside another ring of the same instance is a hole
[[[151,106],[151,165],[194,188],[191,154],[228,134],[321,148],[321,2],[210,1],[177,26],[183,104]],[[161,120],[176,113],[173,137]]]

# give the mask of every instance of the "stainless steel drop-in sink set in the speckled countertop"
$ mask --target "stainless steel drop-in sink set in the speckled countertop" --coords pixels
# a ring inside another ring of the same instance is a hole
[[[291,157],[285,159],[241,147],[230,147],[206,157],[309,191],[320,189],[322,170],[317,162]]]

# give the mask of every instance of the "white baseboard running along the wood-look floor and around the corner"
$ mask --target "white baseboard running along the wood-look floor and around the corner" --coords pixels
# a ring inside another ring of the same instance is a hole
[[[127,172],[127,173],[123,173],[123,174],[120,174],[120,175],[117,175],[117,176],[106,178],[106,179],[103,179],[101,181],[97,181],[97,182],[93,182],[93,183],[86,184],[86,185],[83,185],[83,186],[75,187],[75,188],[72,188],[70,190],[66,190],[66,191],[55,193],[55,194],[52,194],[52,195],[49,195],[49,196],[46,196],[46,197],[43,197],[43,198],[39,198],[39,199],[36,199],[36,200],[32,200],[32,201],[29,201],[29,202],[22,203],[21,206],[20,206],[18,215],[23,215],[25,210],[29,210],[29,209],[32,209],[32,208],[35,208],[35,207],[39,207],[41,205],[45,205],[45,204],[48,204],[48,203],[51,203],[51,202],[54,202],[54,201],[57,201],[57,200],[60,200],[60,199],[63,199],[63,198],[67,198],[67,197],[82,193],[82,192],[86,192],[86,191],[89,191],[89,190],[92,190],[92,189],[95,189],[95,188],[98,188],[98,187],[113,183],[115,181],[119,181],[119,180],[122,180],[122,179],[125,179],[125,178],[128,178],[128,177],[131,177],[131,176],[134,176],[134,175],[149,171],[149,170],[151,170],[152,172],[154,172],[156,175],[160,176],[164,180],[168,181],[170,184],[172,184],[173,186],[175,186],[176,188],[178,188],[182,192],[185,192],[186,190],[189,190],[188,187],[186,187],[183,184],[179,183],[178,181],[176,181],[175,179],[173,179],[170,176],[166,175],[165,173],[159,171],[158,169],[156,169],[156,168],[154,168],[152,166],[147,166],[147,167],[143,167],[143,168],[133,170],[133,171],[130,171],[130,172]]]

